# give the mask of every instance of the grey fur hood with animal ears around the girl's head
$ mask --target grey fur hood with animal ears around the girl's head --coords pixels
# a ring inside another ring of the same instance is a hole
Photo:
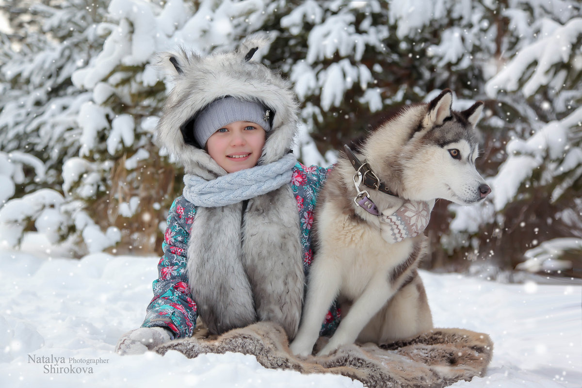
[[[207,152],[184,143],[180,130],[206,105],[225,95],[260,101],[275,112],[273,129],[268,133],[259,163],[274,162],[292,148],[299,107],[292,85],[267,66],[251,60],[268,43],[261,37],[249,37],[232,52],[204,57],[181,49],[161,55],[159,65],[172,74],[175,85],[162,109],[157,142],[184,165],[186,173],[210,169],[217,175],[225,174]]]

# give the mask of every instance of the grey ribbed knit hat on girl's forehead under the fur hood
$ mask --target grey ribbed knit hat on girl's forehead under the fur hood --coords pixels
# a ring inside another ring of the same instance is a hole
[[[208,138],[221,127],[236,121],[259,124],[266,132],[271,130],[273,112],[260,102],[231,96],[217,98],[206,106],[193,123],[193,135],[204,148]]]

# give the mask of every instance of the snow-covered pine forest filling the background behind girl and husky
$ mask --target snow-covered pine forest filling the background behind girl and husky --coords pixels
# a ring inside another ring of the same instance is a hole
[[[272,42],[255,56],[301,102],[303,163],[444,88],[457,110],[485,102],[493,192],[437,203],[425,268],[581,277],[580,15],[577,0],[0,1],[0,246],[161,253],[183,171],[154,145],[172,87],[156,54],[258,32]]]

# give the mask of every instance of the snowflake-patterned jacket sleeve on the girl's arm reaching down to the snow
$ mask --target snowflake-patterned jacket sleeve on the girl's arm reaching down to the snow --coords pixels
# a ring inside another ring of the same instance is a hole
[[[186,251],[196,208],[183,197],[173,202],[164,234],[164,255],[154,280],[154,298],[147,307],[143,328],[162,326],[175,337],[189,337],[196,327],[197,309],[186,274]]]

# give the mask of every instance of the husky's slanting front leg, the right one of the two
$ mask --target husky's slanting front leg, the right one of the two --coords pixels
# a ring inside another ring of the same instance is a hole
[[[364,326],[386,304],[386,301],[392,298],[394,293],[386,276],[374,277],[339,323],[338,330],[317,355],[328,355],[342,345],[353,344]]]

